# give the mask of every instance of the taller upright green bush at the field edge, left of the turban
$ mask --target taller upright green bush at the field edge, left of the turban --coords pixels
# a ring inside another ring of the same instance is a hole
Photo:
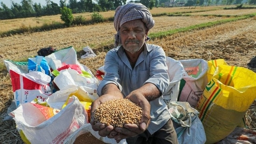
[[[61,20],[65,22],[66,26],[70,26],[74,20],[74,17],[72,15],[72,9],[68,7],[61,8]]]

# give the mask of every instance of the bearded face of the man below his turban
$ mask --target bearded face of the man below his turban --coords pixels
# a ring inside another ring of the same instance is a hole
[[[143,46],[146,34],[145,24],[140,19],[125,22],[120,27],[121,44],[125,50],[132,54],[138,52]]]

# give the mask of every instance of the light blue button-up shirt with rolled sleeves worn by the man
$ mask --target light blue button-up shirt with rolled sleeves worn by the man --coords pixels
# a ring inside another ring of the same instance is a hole
[[[97,88],[98,96],[106,84],[118,86],[124,97],[131,91],[140,88],[145,83],[153,83],[163,94],[169,85],[166,56],[163,48],[146,44],[132,69],[122,46],[111,49],[105,56],[104,79]],[[159,130],[171,117],[163,96],[150,102],[151,122],[148,131],[153,134]]]

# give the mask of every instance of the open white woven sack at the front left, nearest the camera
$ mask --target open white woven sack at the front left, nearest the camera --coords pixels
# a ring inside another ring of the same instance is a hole
[[[69,135],[88,123],[87,113],[76,96],[72,96],[68,105],[50,118],[45,117],[47,111],[41,110],[41,114],[39,110],[30,109],[28,104],[22,104],[10,114],[26,144],[62,144]]]

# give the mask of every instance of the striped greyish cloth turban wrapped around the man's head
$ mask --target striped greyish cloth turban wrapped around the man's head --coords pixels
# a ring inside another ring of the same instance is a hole
[[[137,19],[141,19],[145,23],[148,30],[154,27],[155,21],[153,20],[149,9],[141,3],[128,3],[124,6],[119,6],[116,9],[114,17],[114,27],[117,31],[115,37],[116,46],[121,43],[120,27],[127,21],[133,21]]]

